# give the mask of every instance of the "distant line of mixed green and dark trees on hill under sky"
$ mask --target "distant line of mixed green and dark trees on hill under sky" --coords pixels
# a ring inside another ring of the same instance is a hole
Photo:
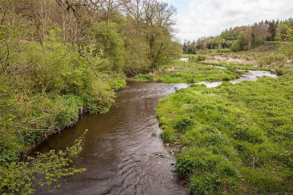
[[[280,41],[278,34],[285,34],[286,26],[293,26],[293,18],[286,20],[265,20],[253,25],[240,26],[224,30],[220,35],[200,37],[197,41],[187,41],[181,46],[183,54],[196,54],[197,50],[231,49],[246,51],[261,46],[265,41]],[[284,39],[281,36],[281,39]]]

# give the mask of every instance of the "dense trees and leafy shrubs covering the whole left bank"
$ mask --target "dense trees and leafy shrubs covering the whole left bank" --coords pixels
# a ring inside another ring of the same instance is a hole
[[[35,183],[51,185],[80,172],[67,164],[81,142],[28,164],[15,162],[80,114],[107,112],[114,92],[126,85],[125,73],[178,59],[175,15],[174,7],[156,0],[0,1],[1,193],[33,193]],[[27,166],[34,167],[31,174],[22,171]]]

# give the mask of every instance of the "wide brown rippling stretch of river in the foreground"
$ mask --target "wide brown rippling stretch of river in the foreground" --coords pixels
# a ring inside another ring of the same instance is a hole
[[[60,188],[40,189],[37,194],[186,194],[159,137],[155,108],[159,99],[188,84],[127,85],[117,92],[108,113],[84,114],[74,127],[35,149],[64,149],[88,129],[84,149],[73,163],[87,171],[59,180]]]

